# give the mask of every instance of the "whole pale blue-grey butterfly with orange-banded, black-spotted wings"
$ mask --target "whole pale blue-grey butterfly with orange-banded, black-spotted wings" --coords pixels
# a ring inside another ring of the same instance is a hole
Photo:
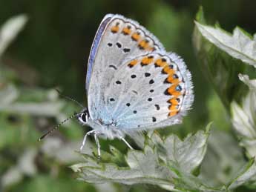
[[[180,56],[137,21],[107,14],[96,32],[88,59],[85,89],[88,107],[74,116],[99,136],[125,135],[182,122],[194,101],[191,73]]]

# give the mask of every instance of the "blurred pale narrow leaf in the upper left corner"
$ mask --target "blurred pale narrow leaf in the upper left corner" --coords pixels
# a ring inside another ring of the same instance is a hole
[[[27,16],[20,15],[15,16],[1,27],[0,30],[0,56],[4,53],[4,50],[8,47],[10,42],[15,39],[17,34],[23,29],[27,22]]]

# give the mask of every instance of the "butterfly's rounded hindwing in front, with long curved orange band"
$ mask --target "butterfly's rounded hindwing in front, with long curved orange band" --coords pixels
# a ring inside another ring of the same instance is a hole
[[[174,125],[194,100],[191,73],[174,53],[146,53],[119,66],[103,98],[103,110],[124,131]]]

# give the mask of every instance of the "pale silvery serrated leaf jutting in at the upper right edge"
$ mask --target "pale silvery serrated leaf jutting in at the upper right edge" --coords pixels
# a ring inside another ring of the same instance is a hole
[[[219,27],[210,27],[195,21],[200,33],[228,53],[235,59],[240,59],[247,64],[256,67],[256,41],[248,36],[239,27],[234,28],[233,34],[229,34]]]

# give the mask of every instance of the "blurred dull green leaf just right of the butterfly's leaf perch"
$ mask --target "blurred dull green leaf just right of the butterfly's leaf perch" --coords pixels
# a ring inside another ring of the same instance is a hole
[[[215,127],[215,123],[212,126]],[[200,167],[203,183],[211,186],[223,185],[229,182],[245,163],[237,140],[226,131],[212,128],[207,153]]]

